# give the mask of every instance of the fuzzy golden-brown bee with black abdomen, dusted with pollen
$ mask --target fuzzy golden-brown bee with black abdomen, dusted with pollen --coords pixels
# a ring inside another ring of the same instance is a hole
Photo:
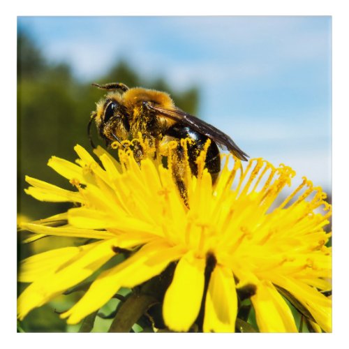
[[[205,168],[211,174],[213,183],[221,170],[221,157],[218,146],[228,149],[234,156],[246,161],[248,155],[225,133],[207,122],[180,110],[174,105],[170,95],[141,87],[128,88],[125,84],[92,84],[110,92],[96,105],[88,125],[91,146],[91,122],[96,121],[99,135],[108,147],[115,141],[138,138],[139,133],[155,149],[161,144],[177,140],[178,146],[172,159],[172,172],[182,196],[185,195],[183,181],[184,149],[180,140],[189,138],[187,154],[191,172],[198,175],[196,158],[204,149],[207,140],[211,143],[207,149]],[[142,149],[140,149],[142,153]]]

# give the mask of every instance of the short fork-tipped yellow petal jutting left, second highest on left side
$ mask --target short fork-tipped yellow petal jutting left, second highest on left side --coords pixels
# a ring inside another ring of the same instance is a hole
[[[32,186],[24,189],[24,191],[37,200],[50,202],[84,202],[79,192],[66,191],[65,189],[59,188],[59,186],[54,186],[29,176],[26,176],[25,180]]]

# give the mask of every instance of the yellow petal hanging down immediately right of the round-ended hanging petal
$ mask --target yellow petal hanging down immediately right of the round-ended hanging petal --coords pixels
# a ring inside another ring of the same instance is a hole
[[[217,266],[205,301],[204,332],[235,332],[237,292],[230,269]]]

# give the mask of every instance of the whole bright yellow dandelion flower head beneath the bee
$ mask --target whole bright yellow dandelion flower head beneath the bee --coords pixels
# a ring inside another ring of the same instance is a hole
[[[138,163],[132,151],[121,150],[117,162],[98,148],[97,162],[82,147],[75,151],[77,164],[57,157],[48,162],[75,190],[27,177],[27,193],[42,201],[78,205],[43,221],[22,223],[22,228],[40,237],[97,241],[22,261],[20,281],[30,285],[18,299],[20,319],[128,249],[131,256],[101,272],[62,318],[80,322],[121,287],[134,288],[175,262],[163,299],[163,319],[171,330],[188,331],[205,309],[204,332],[234,332],[239,294],[249,290],[260,332],[297,332],[285,298],[295,300],[314,327],[331,331],[331,300],[322,293],[332,288],[329,233],[323,229],[331,211],[321,188],[304,179],[279,202],[295,174],[291,168],[253,159],[244,169],[232,156],[223,156],[223,170],[213,186],[204,151],[198,177],[186,171],[184,202],[171,166],[165,168],[160,158]],[[68,223],[50,226],[61,219]]]

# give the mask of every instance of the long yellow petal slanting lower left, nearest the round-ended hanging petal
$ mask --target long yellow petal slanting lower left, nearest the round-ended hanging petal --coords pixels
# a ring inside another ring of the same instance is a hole
[[[125,262],[101,273],[82,299],[61,314],[61,318],[69,317],[69,324],[80,322],[82,318],[101,308],[119,288],[132,288],[151,279],[180,255],[178,248],[170,248],[161,241],[145,245]]]

